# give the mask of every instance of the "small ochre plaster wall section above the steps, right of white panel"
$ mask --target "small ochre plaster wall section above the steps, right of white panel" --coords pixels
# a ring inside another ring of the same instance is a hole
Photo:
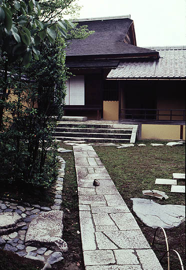
[[[118,101],[103,101],[103,120],[118,120]]]

